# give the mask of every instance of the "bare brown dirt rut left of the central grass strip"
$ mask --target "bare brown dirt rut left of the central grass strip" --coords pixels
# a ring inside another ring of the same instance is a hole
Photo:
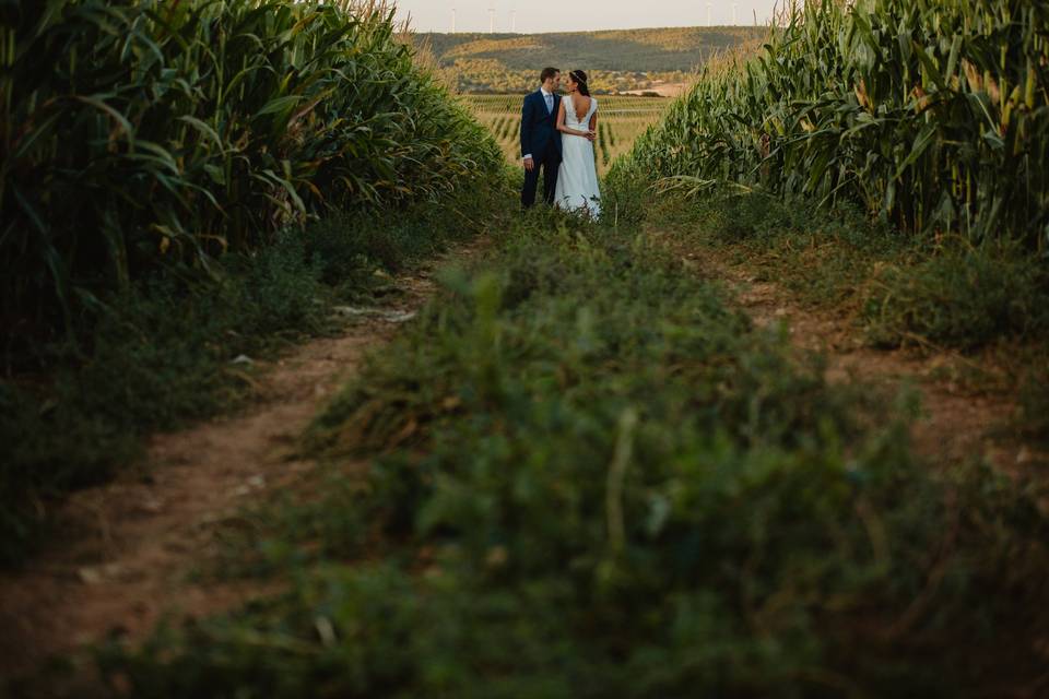
[[[269,592],[257,582],[197,582],[190,573],[217,549],[224,520],[311,469],[296,455],[298,436],[363,355],[423,306],[439,263],[399,279],[394,306],[343,308],[357,320],[341,336],[259,367],[258,400],[240,414],[157,435],[143,467],[70,497],[50,548],[24,570],[0,574],[0,678],[109,633],[140,639],[170,611],[202,617]]]

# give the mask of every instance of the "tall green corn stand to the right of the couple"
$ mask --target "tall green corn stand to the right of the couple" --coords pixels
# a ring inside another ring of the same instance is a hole
[[[630,166],[1046,249],[1049,2],[816,0],[785,20],[705,68]]]

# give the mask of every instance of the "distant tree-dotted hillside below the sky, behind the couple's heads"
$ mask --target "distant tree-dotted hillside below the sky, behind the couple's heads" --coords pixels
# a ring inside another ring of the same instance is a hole
[[[704,26],[553,34],[416,34],[462,93],[524,93],[544,66],[581,69],[594,93],[674,94],[711,56],[761,42],[764,27]]]

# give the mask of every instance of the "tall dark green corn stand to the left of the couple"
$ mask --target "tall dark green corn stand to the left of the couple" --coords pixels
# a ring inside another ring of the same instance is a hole
[[[68,327],[161,264],[211,268],[499,162],[374,2],[14,0],[0,21],[12,330]]]

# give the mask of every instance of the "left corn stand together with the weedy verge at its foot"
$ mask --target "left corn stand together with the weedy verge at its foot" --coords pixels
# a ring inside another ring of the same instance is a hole
[[[0,559],[144,434],[243,395],[239,354],[475,230],[498,149],[379,12],[4,5]]]

